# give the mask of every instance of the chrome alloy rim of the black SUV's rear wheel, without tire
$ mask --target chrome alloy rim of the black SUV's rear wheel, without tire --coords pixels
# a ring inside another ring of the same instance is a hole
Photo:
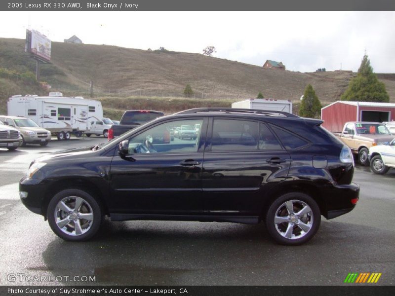
[[[311,230],[314,222],[312,209],[301,200],[288,200],[276,210],[275,227],[287,239],[299,239]]]

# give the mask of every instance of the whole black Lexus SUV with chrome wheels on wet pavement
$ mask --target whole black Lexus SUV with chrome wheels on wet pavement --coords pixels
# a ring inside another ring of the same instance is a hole
[[[298,245],[353,210],[351,151],[322,120],[262,110],[198,108],[157,118],[106,143],[32,162],[22,203],[62,239],[112,221],[259,223]],[[196,137],[170,133],[182,126]]]

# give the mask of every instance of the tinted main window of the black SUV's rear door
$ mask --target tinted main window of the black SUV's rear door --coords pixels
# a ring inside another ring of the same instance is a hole
[[[211,151],[243,151],[257,148],[257,122],[214,119]]]

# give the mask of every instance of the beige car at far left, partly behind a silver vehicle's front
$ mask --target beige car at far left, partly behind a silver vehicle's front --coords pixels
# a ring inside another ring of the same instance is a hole
[[[1,115],[0,120],[8,126],[12,126],[19,130],[22,137],[21,146],[25,146],[26,144],[40,144],[41,146],[47,146],[51,141],[51,132],[40,127],[32,119],[19,116]]]

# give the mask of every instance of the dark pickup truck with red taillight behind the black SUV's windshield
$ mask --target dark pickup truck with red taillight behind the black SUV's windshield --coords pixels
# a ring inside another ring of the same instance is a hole
[[[120,118],[119,124],[111,126],[108,134],[108,139],[112,140],[155,118],[163,116],[163,112],[152,110],[129,110],[125,111]]]

